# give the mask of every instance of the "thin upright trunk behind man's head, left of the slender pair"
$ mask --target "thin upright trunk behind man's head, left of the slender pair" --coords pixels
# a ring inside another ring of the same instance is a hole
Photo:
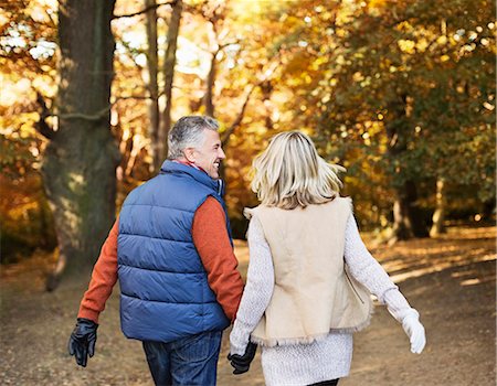
[[[145,0],[145,7],[152,7],[157,3],[156,0]],[[147,69],[148,69],[148,90],[150,93],[150,99],[148,100],[148,116],[149,116],[149,136],[152,140],[151,151],[154,159],[154,167],[161,160],[156,162],[156,158],[159,154],[159,125],[160,125],[160,111],[159,111],[159,58],[157,46],[157,9],[154,8],[147,12],[146,20],[147,30]]]

